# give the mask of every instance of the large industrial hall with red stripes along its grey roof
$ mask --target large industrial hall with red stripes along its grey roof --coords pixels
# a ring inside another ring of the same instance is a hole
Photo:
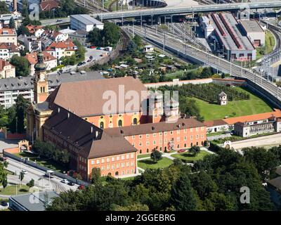
[[[211,13],[200,19],[206,38],[212,38],[218,43],[215,50],[221,51],[228,60],[249,61],[256,59],[256,49],[241,25],[231,13]]]

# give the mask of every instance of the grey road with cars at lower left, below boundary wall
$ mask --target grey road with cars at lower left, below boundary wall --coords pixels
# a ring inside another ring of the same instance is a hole
[[[25,165],[24,163],[20,164],[20,162],[12,160],[11,158],[8,158],[7,169],[16,174],[15,176],[8,176],[8,182],[11,183],[19,184],[20,181],[17,179],[18,174],[20,174],[21,169],[25,169],[27,171],[27,174],[25,174],[25,177],[22,180],[23,184],[26,184],[31,179],[34,179],[35,186],[39,186],[41,190],[53,190],[57,193],[60,193],[62,191],[68,191],[70,189],[75,191],[78,188],[77,184],[75,184],[74,186],[63,184],[61,182],[61,179],[56,176],[49,180],[48,177],[44,176],[45,172],[41,171],[40,169],[30,167],[29,165]]]

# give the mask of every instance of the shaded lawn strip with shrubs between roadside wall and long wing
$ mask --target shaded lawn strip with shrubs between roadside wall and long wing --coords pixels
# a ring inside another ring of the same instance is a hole
[[[37,155],[34,155],[32,153],[17,153],[15,154],[18,157],[22,157],[22,158],[30,158],[30,161],[33,161],[38,163],[38,165],[42,165],[44,167],[48,167],[49,169],[52,169],[54,171],[58,171],[58,172],[67,172],[67,168],[63,167],[62,165],[58,164],[58,162],[55,162],[52,159],[46,160],[46,158],[39,158]]]

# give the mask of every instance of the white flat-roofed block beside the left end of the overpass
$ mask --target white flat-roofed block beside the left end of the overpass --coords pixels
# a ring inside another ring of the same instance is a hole
[[[79,14],[79,15],[70,15],[70,27],[73,30],[84,30],[89,32],[93,28],[98,28],[103,30],[104,24],[99,20],[92,18],[90,15]]]

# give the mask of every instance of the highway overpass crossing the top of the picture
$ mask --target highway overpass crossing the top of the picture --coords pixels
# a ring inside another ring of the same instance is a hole
[[[184,7],[169,7],[169,8],[150,8],[136,11],[118,11],[110,13],[97,13],[93,17],[99,17],[101,20],[113,20],[122,18],[133,18],[140,16],[151,15],[179,15],[188,13],[204,13],[217,11],[238,11],[246,8],[280,8],[281,1],[263,1],[251,3],[237,3],[237,4],[211,4],[204,6],[184,6]]]

